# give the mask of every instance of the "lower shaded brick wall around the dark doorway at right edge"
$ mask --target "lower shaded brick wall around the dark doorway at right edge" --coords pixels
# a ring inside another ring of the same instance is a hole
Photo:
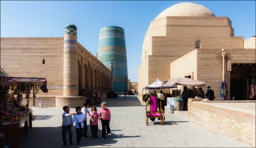
[[[228,60],[231,63],[256,63],[255,49],[225,49],[225,81],[230,90],[231,70],[228,70]],[[241,58],[246,57],[246,58]],[[220,100],[220,84],[222,83],[222,49],[197,49],[197,79],[205,82],[206,90],[210,85],[214,90],[216,100]],[[228,99],[230,98],[228,93]]]

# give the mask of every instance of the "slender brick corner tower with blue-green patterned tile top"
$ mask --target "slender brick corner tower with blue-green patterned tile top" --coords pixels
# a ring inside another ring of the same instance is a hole
[[[63,96],[78,96],[77,27],[64,29]]]

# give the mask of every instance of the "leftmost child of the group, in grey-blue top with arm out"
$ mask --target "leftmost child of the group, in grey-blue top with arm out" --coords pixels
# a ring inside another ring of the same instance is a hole
[[[63,146],[66,146],[66,132],[68,132],[68,140],[69,144],[72,145],[72,127],[73,125],[71,124],[72,122],[72,115],[75,113],[69,113],[69,107],[68,106],[63,106],[63,111],[64,113],[62,114],[62,140],[63,140]]]

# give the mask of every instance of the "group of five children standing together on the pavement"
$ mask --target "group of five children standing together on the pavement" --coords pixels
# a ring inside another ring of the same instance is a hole
[[[83,103],[83,108],[77,106],[75,108],[76,113],[69,113],[69,107],[63,106],[64,113],[62,114],[62,140],[63,145],[66,145],[66,133],[69,134],[69,143],[72,145],[72,127],[75,123],[75,132],[77,135],[77,145],[80,144],[82,136],[88,138],[87,131],[87,114],[90,117],[90,126],[92,132],[92,139],[97,138],[98,134],[98,121],[101,120],[102,125],[102,140],[105,140],[106,134],[110,134],[110,119],[111,113],[108,108],[106,108],[106,102],[101,103],[100,114],[97,113],[96,106],[92,106],[91,113],[88,111],[89,103]],[[72,117],[74,116],[74,117]]]

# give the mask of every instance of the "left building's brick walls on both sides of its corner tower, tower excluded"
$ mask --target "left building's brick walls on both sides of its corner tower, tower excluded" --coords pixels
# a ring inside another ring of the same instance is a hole
[[[77,46],[79,87],[110,88],[110,70],[82,45]],[[39,91],[39,94],[63,96],[63,37],[1,37],[1,68],[13,77],[46,78],[48,93]]]

